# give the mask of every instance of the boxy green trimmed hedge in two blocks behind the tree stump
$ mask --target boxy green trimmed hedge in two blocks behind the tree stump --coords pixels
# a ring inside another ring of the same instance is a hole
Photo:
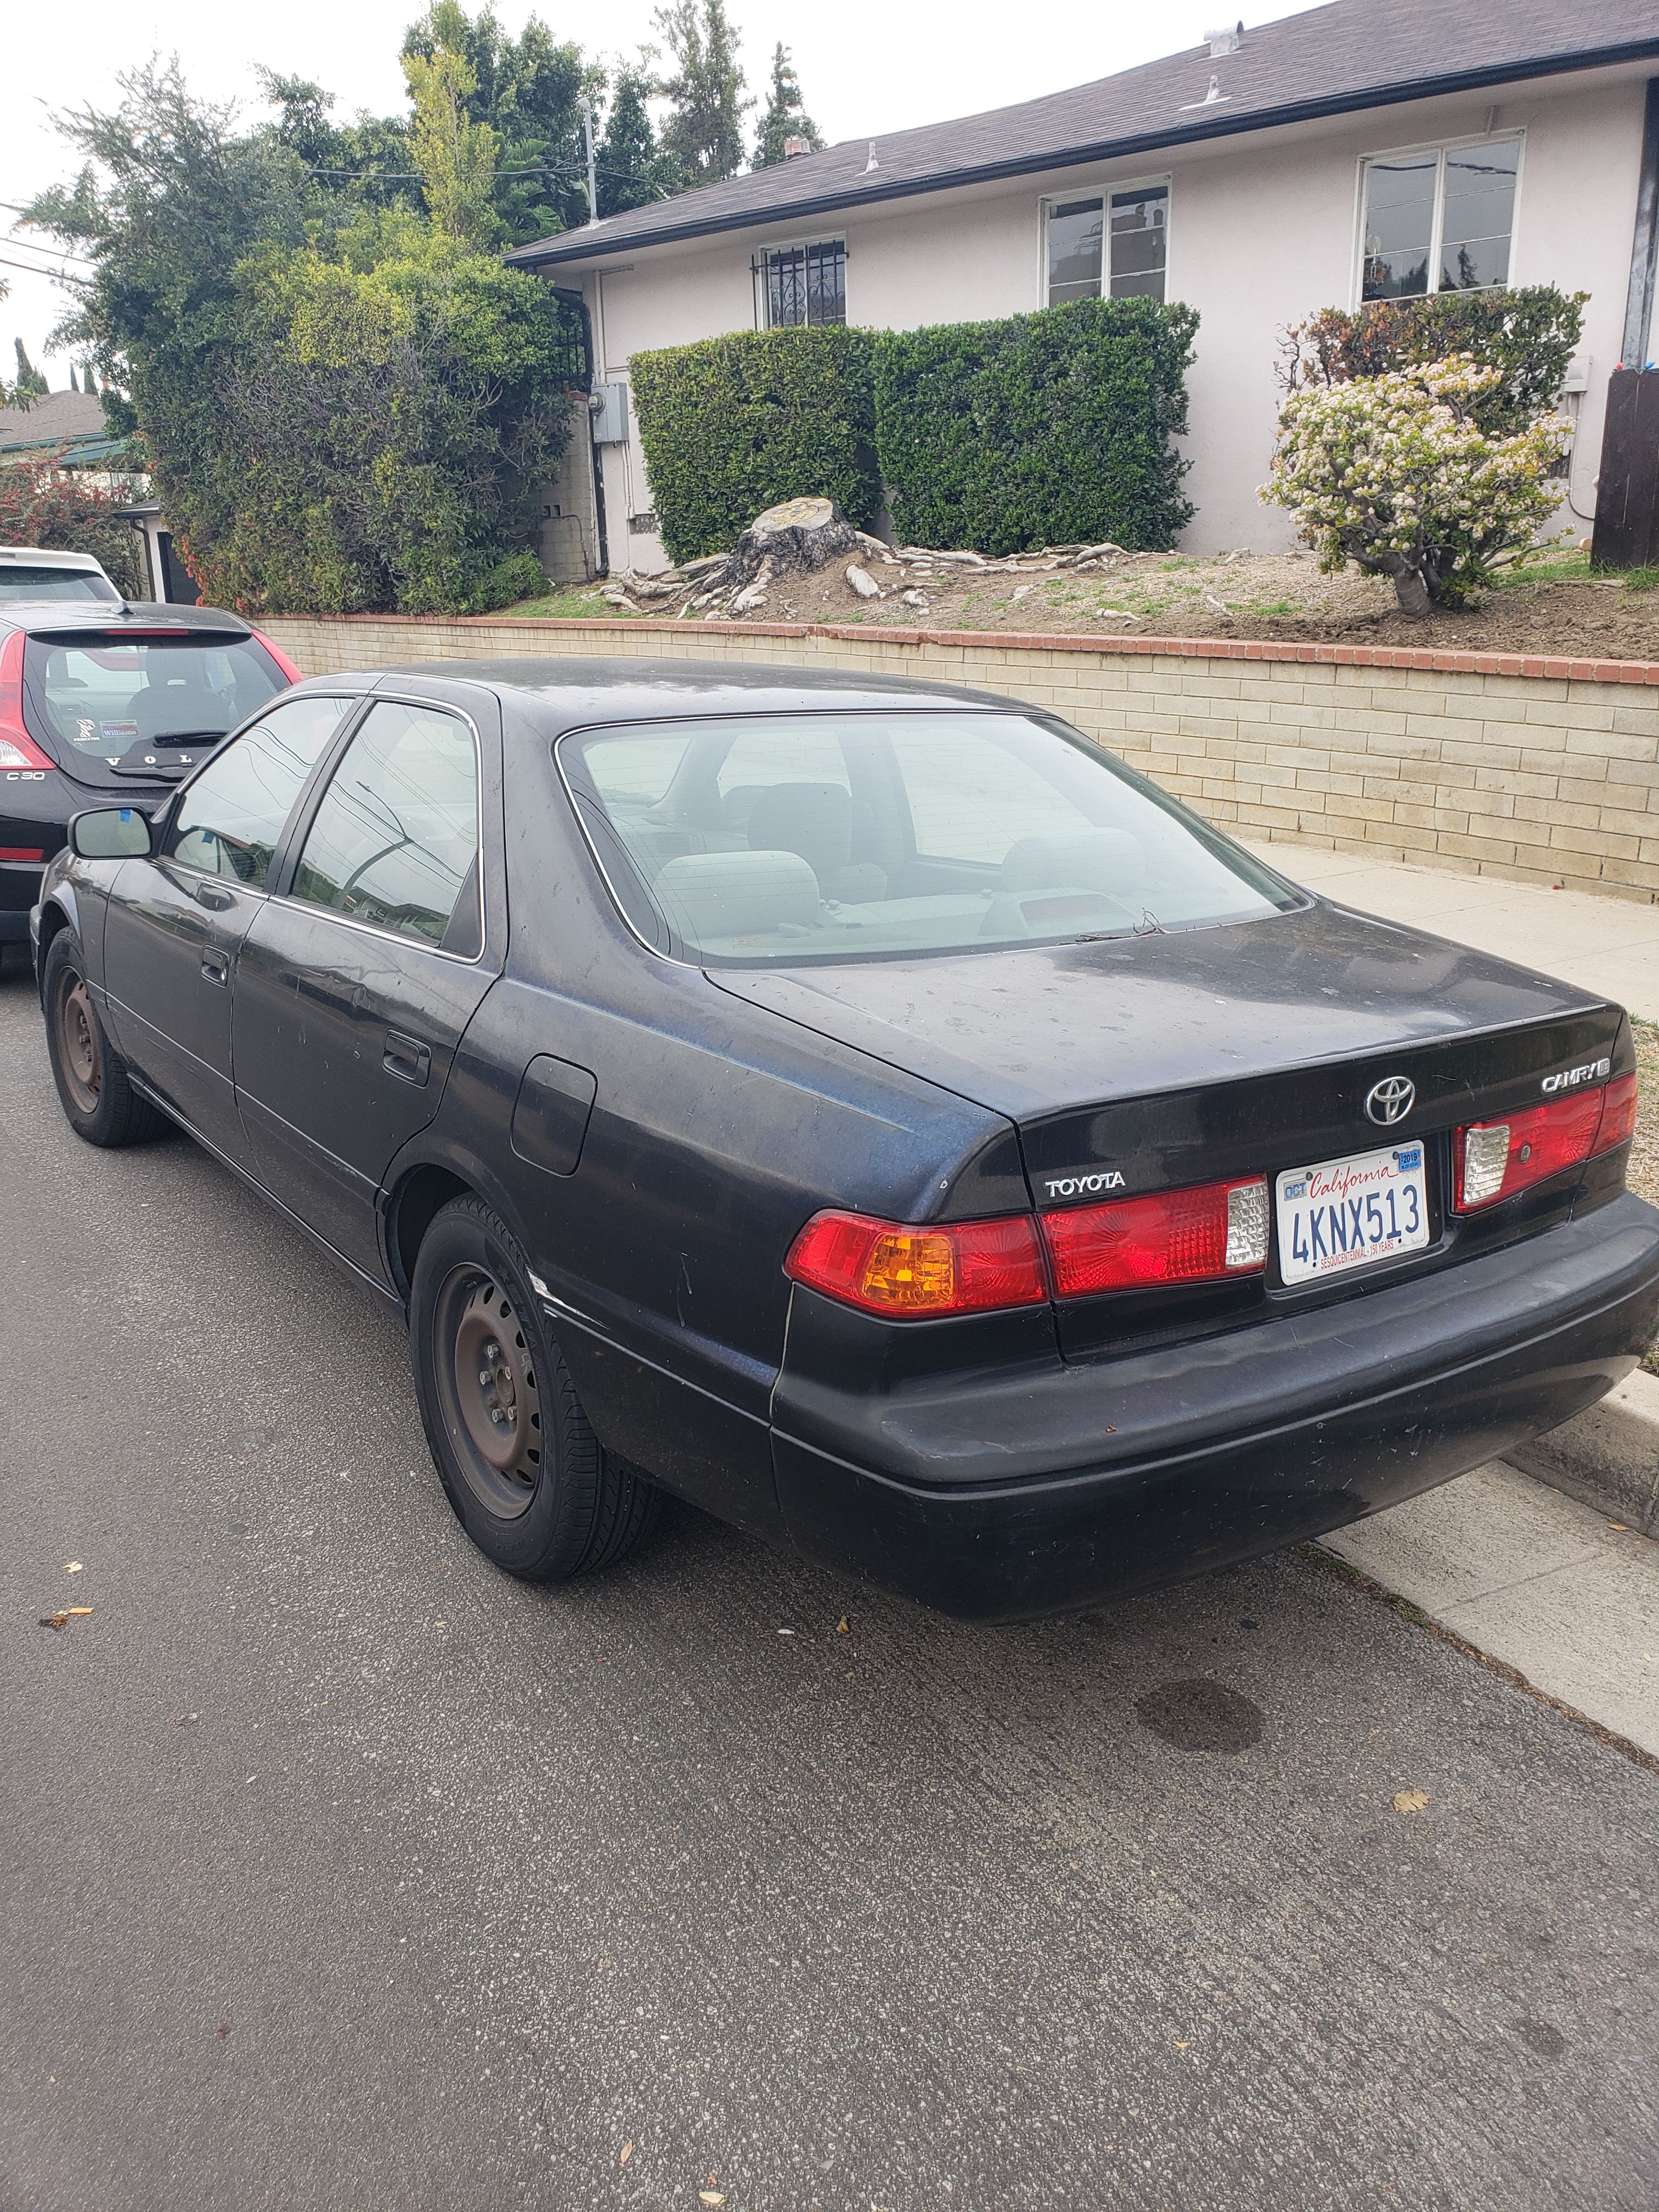
[[[975,553],[1113,538],[1168,546],[1190,520],[1192,307],[1084,299],[933,330],[763,330],[630,363],[672,560],[723,553],[763,507],[818,495],[869,529]]]

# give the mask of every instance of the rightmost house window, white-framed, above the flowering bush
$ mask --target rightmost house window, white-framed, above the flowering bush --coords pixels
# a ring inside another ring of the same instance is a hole
[[[1509,283],[1517,175],[1517,137],[1367,161],[1360,299]]]

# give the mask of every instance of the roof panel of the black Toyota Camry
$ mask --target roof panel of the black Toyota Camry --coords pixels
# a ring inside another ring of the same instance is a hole
[[[316,679],[319,688],[418,690],[422,681],[482,684],[549,732],[611,721],[664,721],[688,714],[801,714],[841,708],[1009,708],[1015,701],[956,684],[874,677],[849,668],[790,668],[745,661],[575,657],[409,661]]]

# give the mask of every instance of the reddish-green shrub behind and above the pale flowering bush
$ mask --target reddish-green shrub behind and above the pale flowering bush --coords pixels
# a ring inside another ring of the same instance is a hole
[[[1584,330],[1588,292],[1551,283],[1520,292],[1431,292],[1378,299],[1349,314],[1325,307],[1285,332],[1283,383],[1290,392],[1385,376],[1420,361],[1469,354],[1495,383],[1473,403],[1473,418],[1498,438],[1548,414]]]

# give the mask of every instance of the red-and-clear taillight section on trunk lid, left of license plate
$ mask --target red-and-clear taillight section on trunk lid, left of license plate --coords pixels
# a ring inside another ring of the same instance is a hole
[[[1062,1298],[1214,1283],[1267,1265],[1267,1183],[1199,1183],[1042,1217]]]

